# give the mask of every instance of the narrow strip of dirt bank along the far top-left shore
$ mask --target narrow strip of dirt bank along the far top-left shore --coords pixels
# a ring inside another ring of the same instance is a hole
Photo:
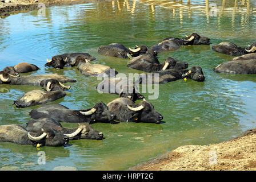
[[[74,5],[86,2],[95,2],[104,0],[0,0],[0,18],[5,18],[17,11],[35,10],[39,3],[44,3],[46,7],[60,5]]]

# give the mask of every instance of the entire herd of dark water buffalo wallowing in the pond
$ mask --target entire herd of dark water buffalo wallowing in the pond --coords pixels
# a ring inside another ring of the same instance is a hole
[[[210,39],[196,33],[186,38],[166,38],[151,48],[141,45],[126,48],[122,44],[112,43],[100,46],[98,53],[130,59],[127,67],[149,73],[159,73],[159,79],[153,78],[153,84],[163,84],[178,79],[204,81],[205,76],[201,67],[188,69],[189,64],[173,57],[167,57],[161,64],[157,59],[158,53],[175,51],[181,46],[209,45]],[[227,55],[239,56],[215,67],[214,72],[235,74],[256,74],[256,42],[247,47],[238,47],[234,43],[222,42],[213,46],[213,51]],[[16,107],[42,105],[30,111],[31,121],[26,127],[21,125],[0,126],[0,141],[17,144],[39,146],[62,146],[75,139],[103,139],[103,133],[94,130],[91,123],[104,122],[115,124],[119,122],[161,123],[163,116],[159,114],[153,104],[146,101],[137,90],[136,84],[142,84],[141,77],[137,81],[115,77],[115,69],[107,65],[91,64],[95,57],[89,53],[65,53],[53,56],[47,60],[45,67],[62,69],[63,67],[77,67],[84,76],[110,77],[98,84],[97,89],[105,93],[114,93],[119,97],[109,104],[99,102],[89,109],[71,110],[60,104],[46,104],[65,96],[65,90],[70,86],[63,83],[76,80],[58,74],[21,76],[19,73],[37,71],[36,65],[20,63],[14,67],[6,67],[0,72],[0,84],[35,85],[42,89],[32,90],[14,101]],[[147,75],[143,74],[147,77]],[[142,74],[141,74],[142,76]],[[106,84],[106,81],[109,83]],[[111,85],[112,84],[112,85]],[[121,89],[111,88],[123,85]],[[105,88],[109,85],[109,88]],[[131,90],[131,92],[125,92]],[[137,100],[143,100],[138,104]],[[77,128],[65,128],[60,122],[79,123]]]

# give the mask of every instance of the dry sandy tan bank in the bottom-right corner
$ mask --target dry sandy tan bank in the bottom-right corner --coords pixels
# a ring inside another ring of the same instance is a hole
[[[256,170],[256,129],[226,142],[178,147],[129,170]]]

